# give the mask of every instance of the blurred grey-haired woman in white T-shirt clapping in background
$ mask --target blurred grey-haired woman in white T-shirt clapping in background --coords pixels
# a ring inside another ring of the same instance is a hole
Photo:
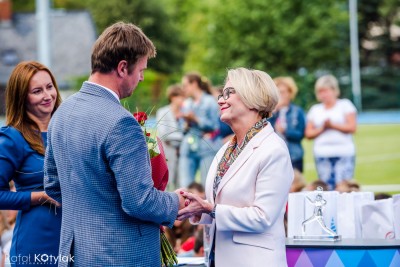
[[[343,180],[351,180],[355,167],[353,134],[357,129],[357,110],[348,99],[339,99],[338,80],[324,75],[315,83],[320,102],[307,114],[306,137],[314,139],[314,160],[319,179],[330,190]]]

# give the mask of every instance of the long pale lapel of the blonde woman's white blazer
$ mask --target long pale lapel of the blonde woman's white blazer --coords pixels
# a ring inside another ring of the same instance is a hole
[[[274,130],[270,123],[262,129],[256,136],[254,136],[250,142],[246,145],[244,150],[239,154],[239,157],[232,163],[229,167],[228,171],[225,173],[222,178],[218,189],[216,198],[218,197],[219,192],[221,192],[222,188],[233,178],[235,173],[239,171],[239,169],[246,163],[246,161],[250,158],[250,156],[254,153],[254,150],[257,149],[261,143],[267,138]],[[214,175],[215,176],[215,175]]]

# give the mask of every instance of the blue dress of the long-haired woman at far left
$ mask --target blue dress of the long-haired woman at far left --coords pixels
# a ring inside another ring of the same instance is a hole
[[[47,133],[42,133],[45,146]],[[31,192],[43,191],[44,156],[34,151],[13,127],[0,128],[0,209],[19,210],[10,251],[12,266],[57,266],[61,209],[31,207]],[[10,180],[16,191],[11,192]]]

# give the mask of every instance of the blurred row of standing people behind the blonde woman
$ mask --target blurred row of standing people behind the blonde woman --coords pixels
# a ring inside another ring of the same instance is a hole
[[[315,83],[319,103],[308,113],[293,103],[298,88],[291,77],[274,79],[280,101],[269,122],[285,140],[293,169],[298,176],[304,171],[302,140],[314,140],[313,155],[318,182],[325,190],[349,191],[353,180],[357,110],[347,99],[339,98],[340,88],[332,75],[320,77]],[[169,187],[187,187],[204,179],[215,153],[232,137],[232,130],[219,120],[218,95],[222,87],[212,86],[199,73],[188,73],[181,84],[167,88],[169,105],[157,112],[157,135],[166,151]],[[197,179],[197,180],[196,180]],[[302,190],[295,181],[296,190]],[[311,186],[311,185],[310,185]],[[304,186],[306,188],[306,186]]]

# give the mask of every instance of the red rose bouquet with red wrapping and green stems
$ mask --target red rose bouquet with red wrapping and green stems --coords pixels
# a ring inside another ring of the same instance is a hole
[[[144,131],[150,155],[151,177],[153,179],[154,187],[158,190],[164,191],[168,184],[168,166],[161,140],[158,137],[153,138],[151,134],[147,132],[145,127],[145,122],[147,120],[146,112],[135,112],[133,113],[133,116],[142,126]],[[160,238],[162,266],[174,266],[178,263],[178,260],[174,249],[164,234],[163,226],[160,226]]]

